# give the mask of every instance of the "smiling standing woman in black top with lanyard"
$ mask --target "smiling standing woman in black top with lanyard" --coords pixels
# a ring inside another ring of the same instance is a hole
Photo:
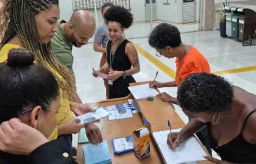
[[[107,43],[107,62],[97,72],[109,70],[109,98],[128,96],[129,83],[135,82],[132,75],[140,71],[137,51],[132,43],[123,38],[124,29],[133,23],[133,15],[126,8],[115,6],[105,13],[111,40]]]

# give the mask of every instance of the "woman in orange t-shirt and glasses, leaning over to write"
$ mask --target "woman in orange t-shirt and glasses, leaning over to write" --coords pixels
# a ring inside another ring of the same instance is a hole
[[[180,87],[180,84],[194,73],[210,73],[210,66],[203,54],[196,47],[182,43],[180,31],[177,27],[168,23],[157,25],[149,34],[149,45],[156,50],[157,57],[168,59],[176,58],[176,77],[172,82],[149,82],[149,87]],[[177,98],[170,96],[166,92],[157,95],[161,100],[177,104]],[[203,145],[211,154],[212,149],[208,141],[206,128],[196,133]]]

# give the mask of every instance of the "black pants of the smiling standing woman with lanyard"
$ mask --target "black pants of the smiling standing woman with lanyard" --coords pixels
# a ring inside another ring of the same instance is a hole
[[[128,76],[126,79],[119,77],[113,82],[113,85],[109,84],[109,99],[128,96],[128,94],[130,94],[130,90],[128,89],[129,84],[133,82],[136,82],[133,76]]]

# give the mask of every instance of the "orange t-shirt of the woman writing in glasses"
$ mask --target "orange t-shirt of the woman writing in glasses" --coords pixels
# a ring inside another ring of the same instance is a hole
[[[207,59],[195,47],[192,47],[181,61],[176,58],[175,62],[177,67],[175,82],[178,88],[183,80],[193,73],[210,73]]]

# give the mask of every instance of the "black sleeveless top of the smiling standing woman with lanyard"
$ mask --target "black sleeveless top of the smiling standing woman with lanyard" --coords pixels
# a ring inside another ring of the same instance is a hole
[[[130,43],[127,39],[123,40],[123,42],[117,47],[116,52],[114,54],[114,59],[112,63],[113,70],[123,71],[123,70],[129,70],[132,66],[130,63],[130,60],[128,59],[128,56],[126,55],[126,44]],[[107,62],[110,66],[110,55],[111,54],[111,45],[112,40],[109,40],[107,43]],[[112,56],[113,57],[113,56]]]

